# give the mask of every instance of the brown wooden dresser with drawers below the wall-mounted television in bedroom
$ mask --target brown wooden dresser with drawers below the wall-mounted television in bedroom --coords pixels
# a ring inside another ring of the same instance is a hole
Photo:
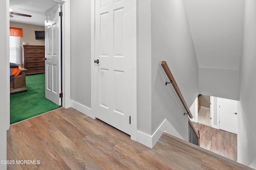
[[[28,74],[44,73],[44,45],[22,45],[22,67]]]

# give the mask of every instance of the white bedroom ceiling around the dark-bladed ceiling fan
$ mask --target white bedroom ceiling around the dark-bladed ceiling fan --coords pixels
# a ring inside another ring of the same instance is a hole
[[[58,2],[53,0],[10,0],[10,8],[14,9],[13,12],[32,16],[12,15],[10,21],[44,25],[44,12],[56,4]]]

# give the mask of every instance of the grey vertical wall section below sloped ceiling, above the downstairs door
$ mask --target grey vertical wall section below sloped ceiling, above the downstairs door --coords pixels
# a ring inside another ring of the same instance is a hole
[[[239,100],[239,80],[237,70],[199,68],[199,93]]]

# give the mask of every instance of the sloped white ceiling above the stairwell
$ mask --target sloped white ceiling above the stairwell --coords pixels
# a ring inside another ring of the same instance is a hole
[[[184,0],[199,68],[240,70],[244,0]]]

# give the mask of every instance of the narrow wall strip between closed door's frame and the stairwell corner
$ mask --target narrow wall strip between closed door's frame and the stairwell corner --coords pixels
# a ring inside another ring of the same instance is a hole
[[[137,1],[137,129],[151,135],[151,2]]]

